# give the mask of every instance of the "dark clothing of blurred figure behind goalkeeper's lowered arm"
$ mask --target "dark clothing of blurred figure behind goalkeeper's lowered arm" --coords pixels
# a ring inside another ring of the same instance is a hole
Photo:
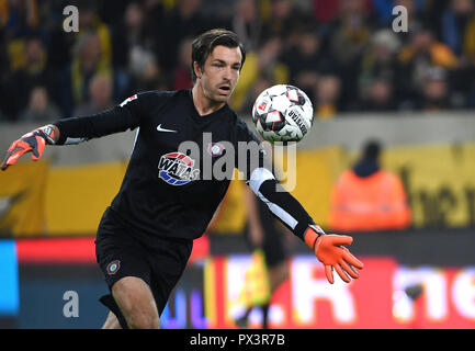
[[[284,246],[284,236],[286,234],[278,226],[278,219],[272,215],[269,207],[260,200],[257,200],[257,202],[259,218],[264,231],[262,251],[264,252],[267,265],[273,268],[283,263],[286,259],[287,254]],[[249,239],[249,226],[246,230],[246,238],[248,244],[251,245]]]

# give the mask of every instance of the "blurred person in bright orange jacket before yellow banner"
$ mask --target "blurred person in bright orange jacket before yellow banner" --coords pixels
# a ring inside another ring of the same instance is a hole
[[[381,149],[377,140],[369,140],[358,162],[338,178],[330,199],[331,230],[392,230],[410,226],[406,191],[396,174],[382,169]]]

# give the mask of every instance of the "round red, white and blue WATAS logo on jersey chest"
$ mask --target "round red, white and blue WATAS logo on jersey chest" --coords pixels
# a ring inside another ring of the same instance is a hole
[[[200,169],[194,168],[194,160],[178,151],[163,155],[158,169],[158,177],[170,185],[184,185],[200,176]]]

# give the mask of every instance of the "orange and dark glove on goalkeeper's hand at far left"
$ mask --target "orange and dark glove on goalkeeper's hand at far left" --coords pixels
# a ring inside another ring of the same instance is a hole
[[[7,170],[25,152],[32,152],[32,159],[37,161],[45,149],[46,144],[55,144],[58,138],[57,128],[46,125],[26,133],[20,139],[12,143],[1,166],[2,171]]]

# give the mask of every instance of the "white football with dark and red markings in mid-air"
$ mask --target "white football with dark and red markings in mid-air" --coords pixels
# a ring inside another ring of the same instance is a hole
[[[314,107],[301,89],[278,84],[256,99],[252,122],[256,131],[270,143],[299,141],[310,131]]]

